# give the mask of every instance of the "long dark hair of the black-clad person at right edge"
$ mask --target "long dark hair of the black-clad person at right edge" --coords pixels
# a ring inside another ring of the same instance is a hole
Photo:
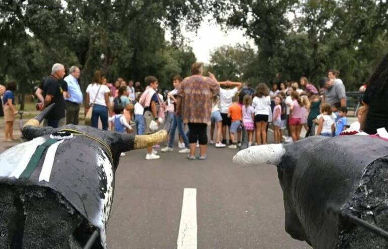
[[[377,69],[369,78],[367,88],[369,88],[369,98],[376,96],[377,93],[384,94],[388,83],[388,53],[385,54]]]

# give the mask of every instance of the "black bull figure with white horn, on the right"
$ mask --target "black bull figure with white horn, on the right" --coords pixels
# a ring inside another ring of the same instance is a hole
[[[314,248],[388,248],[388,142],[310,137],[253,146],[233,162],[276,165],[293,238]]]

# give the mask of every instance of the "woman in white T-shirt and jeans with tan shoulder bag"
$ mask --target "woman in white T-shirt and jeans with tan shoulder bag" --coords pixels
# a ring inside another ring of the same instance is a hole
[[[108,130],[108,111],[111,110],[109,102],[109,88],[102,84],[102,74],[100,70],[94,72],[93,83],[86,88],[86,108],[85,125],[99,128],[99,117],[103,130]]]

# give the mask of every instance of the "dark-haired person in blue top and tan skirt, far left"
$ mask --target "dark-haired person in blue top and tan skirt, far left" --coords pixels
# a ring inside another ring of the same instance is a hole
[[[7,91],[3,95],[3,106],[4,106],[4,121],[6,122],[5,132],[5,142],[14,141],[13,132],[14,132],[14,121],[15,115],[18,114],[15,106],[15,95],[16,91],[16,82],[11,81],[6,85]]]

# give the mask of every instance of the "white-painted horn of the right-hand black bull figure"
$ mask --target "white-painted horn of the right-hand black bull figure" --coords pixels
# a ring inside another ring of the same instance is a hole
[[[233,163],[254,166],[260,164],[278,165],[285,149],[281,144],[268,144],[251,146],[248,149],[239,151],[233,157]]]

